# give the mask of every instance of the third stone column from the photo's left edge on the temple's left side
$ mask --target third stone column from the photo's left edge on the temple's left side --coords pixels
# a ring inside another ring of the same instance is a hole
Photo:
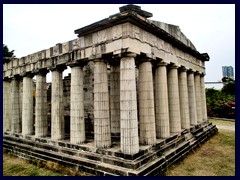
[[[31,74],[23,77],[22,135],[32,135],[34,131],[32,77]]]

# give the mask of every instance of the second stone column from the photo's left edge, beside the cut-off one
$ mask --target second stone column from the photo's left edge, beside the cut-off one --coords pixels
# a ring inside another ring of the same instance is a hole
[[[19,80],[14,77],[11,81],[11,132],[21,132],[21,118],[19,109]]]

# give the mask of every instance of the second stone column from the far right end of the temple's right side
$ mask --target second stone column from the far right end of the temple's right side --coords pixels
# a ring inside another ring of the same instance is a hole
[[[196,96],[196,107],[197,107],[197,122],[203,122],[202,116],[202,89],[201,89],[201,82],[200,82],[200,74],[196,72],[194,75],[194,83],[195,83],[195,96]]]

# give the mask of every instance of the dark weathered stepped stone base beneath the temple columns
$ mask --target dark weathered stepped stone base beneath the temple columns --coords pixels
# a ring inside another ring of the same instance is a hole
[[[142,149],[138,156],[121,157],[115,151],[53,142],[47,138],[4,134],[3,147],[26,159],[51,160],[95,175],[161,175],[171,164],[184,158],[192,149],[217,132],[215,125],[199,126],[201,131],[184,132]],[[186,138],[187,137],[187,138]],[[132,158],[132,159],[131,159]]]

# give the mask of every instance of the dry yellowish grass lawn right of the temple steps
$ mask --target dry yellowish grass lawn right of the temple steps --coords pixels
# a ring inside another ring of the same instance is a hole
[[[221,120],[210,122],[235,125]],[[235,131],[218,132],[182,162],[170,167],[166,176],[235,176]]]

